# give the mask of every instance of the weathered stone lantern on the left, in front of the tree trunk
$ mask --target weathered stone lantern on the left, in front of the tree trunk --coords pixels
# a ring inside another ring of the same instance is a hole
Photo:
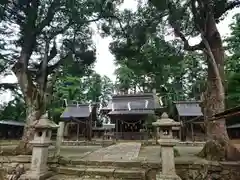
[[[51,176],[48,172],[48,148],[52,144],[52,130],[58,128],[50,121],[47,114],[43,115],[38,122],[33,122],[31,127],[35,129],[34,138],[30,142],[33,146],[30,171],[21,176],[21,179],[40,180]]]

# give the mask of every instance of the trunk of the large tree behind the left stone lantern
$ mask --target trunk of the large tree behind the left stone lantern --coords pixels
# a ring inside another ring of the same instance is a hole
[[[33,84],[32,77],[26,69],[24,60],[27,55],[24,53],[21,54],[20,61],[15,64],[13,67],[13,71],[18,79],[18,83],[20,85],[21,91],[24,95],[24,100],[27,106],[26,109],[26,122],[24,127],[24,132],[21,141],[18,146],[14,150],[14,154],[29,154],[31,153],[31,146],[29,141],[33,138],[34,129],[30,127],[30,125],[41,117],[44,113],[46,106],[45,99],[39,93],[39,90]],[[43,94],[44,92],[42,92]]]

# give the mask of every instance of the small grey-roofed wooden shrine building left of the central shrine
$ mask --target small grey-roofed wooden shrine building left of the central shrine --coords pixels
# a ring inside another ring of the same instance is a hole
[[[65,122],[64,136],[69,140],[92,138],[92,127],[97,119],[96,106],[91,104],[69,104],[60,116]]]

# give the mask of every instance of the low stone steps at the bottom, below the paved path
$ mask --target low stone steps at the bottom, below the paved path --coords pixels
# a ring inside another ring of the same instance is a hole
[[[145,171],[136,168],[114,168],[114,167],[55,167],[53,169],[57,174],[74,176],[103,176],[108,178],[122,178],[144,180]]]

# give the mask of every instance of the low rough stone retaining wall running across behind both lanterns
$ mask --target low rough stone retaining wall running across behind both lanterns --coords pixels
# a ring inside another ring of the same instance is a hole
[[[30,166],[31,156],[0,156],[2,168],[5,171],[11,172],[17,164],[24,164],[26,169]],[[57,164],[61,166],[115,166],[121,168],[142,168],[146,171],[148,180],[155,180],[161,171],[161,164],[158,162],[89,162],[82,160],[73,160],[71,164],[68,161],[57,161],[49,158],[49,164],[57,168]],[[182,180],[239,180],[240,179],[240,162],[209,162],[206,160],[197,159],[176,159],[177,174]]]

